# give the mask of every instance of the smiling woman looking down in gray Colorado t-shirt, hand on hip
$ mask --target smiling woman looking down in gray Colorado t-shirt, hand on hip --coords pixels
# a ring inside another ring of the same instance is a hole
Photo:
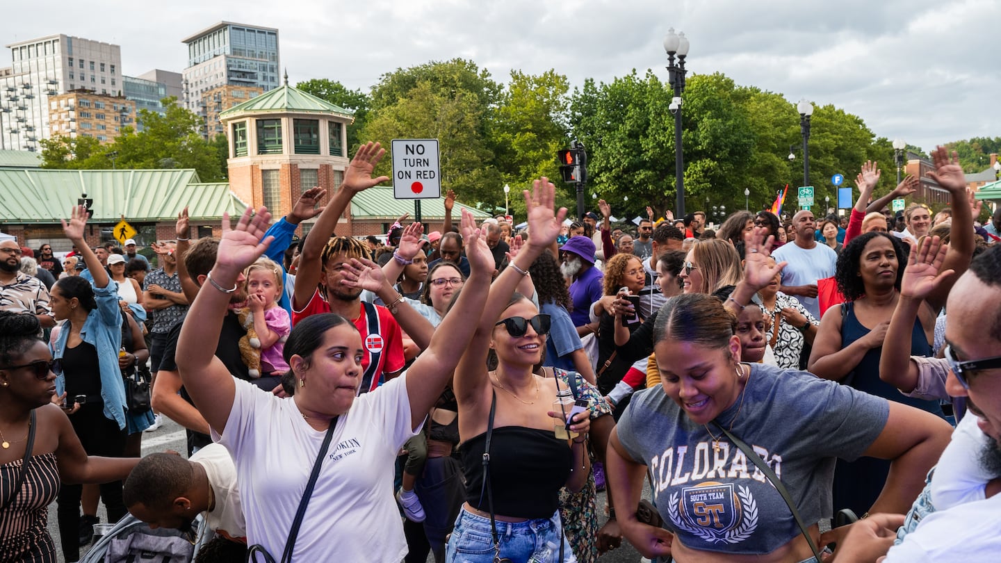
[[[756,263],[749,276],[777,269]],[[740,288],[735,295],[746,299]],[[811,544],[817,522],[832,516],[831,473],[841,457],[893,460],[897,470],[874,509],[907,510],[949,425],[809,374],[743,363],[734,329],[732,312],[712,296],[680,296],[660,311],[655,350],[668,359],[659,363],[661,388],[638,393],[609,440],[623,535],[650,558],[817,563]],[[777,474],[809,541],[765,472],[724,431],[753,445],[750,455]],[[648,472],[667,529],[637,519]]]

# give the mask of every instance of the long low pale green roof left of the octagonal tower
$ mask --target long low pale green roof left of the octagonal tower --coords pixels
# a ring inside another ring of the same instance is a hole
[[[193,169],[0,169],[0,221],[58,223],[81,193],[94,200],[95,222],[172,220],[185,205],[191,217],[214,219],[245,207],[229,184],[201,183]]]

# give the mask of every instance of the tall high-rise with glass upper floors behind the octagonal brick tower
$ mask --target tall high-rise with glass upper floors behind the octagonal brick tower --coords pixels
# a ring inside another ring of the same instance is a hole
[[[206,115],[205,92],[219,86],[278,87],[278,30],[222,21],[181,40],[188,48],[188,65],[182,72],[184,106]],[[207,138],[216,123],[206,122]]]

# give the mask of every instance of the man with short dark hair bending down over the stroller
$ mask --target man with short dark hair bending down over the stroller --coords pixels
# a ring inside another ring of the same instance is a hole
[[[201,514],[209,530],[246,544],[236,467],[219,444],[205,446],[188,460],[167,453],[146,456],[125,480],[122,500],[150,528],[188,532]]]

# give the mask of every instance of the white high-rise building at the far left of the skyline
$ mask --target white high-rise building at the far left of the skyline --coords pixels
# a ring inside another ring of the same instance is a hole
[[[87,89],[120,95],[121,48],[65,34],[7,45],[12,66],[0,69],[0,148],[39,150],[52,136],[51,96]]]

